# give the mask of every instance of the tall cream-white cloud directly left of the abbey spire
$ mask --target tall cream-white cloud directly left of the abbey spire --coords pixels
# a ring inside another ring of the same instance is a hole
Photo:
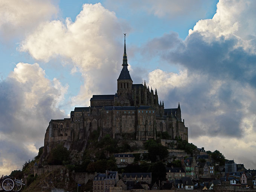
[[[67,18],[66,23],[59,20],[42,23],[21,42],[20,51],[46,62],[58,56],[71,59],[75,67],[72,73],[78,69],[84,79],[72,105],[89,105],[92,94],[116,91],[113,76],[117,79],[121,70],[120,38],[123,29],[130,30],[127,26],[101,3],[84,4],[74,22]]]

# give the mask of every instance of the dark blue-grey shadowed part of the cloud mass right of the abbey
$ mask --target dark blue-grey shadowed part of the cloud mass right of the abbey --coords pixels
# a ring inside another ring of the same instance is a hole
[[[245,87],[255,90],[256,55],[238,46],[239,41],[235,36],[209,40],[197,32],[181,41],[171,33],[144,46],[144,53],[160,54],[170,64],[187,69],[192,81],[170,88],[165,106],[173,106],[169,101],[181,102],[192,138],[243,136],[241,123],[246,113],[242,103],[248,98],[241,91]],[[250,99],[248,102],[252,114],[256,105]]]

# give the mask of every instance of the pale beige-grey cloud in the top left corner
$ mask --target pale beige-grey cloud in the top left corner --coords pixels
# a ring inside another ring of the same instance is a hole
[[[22,37],[38,23],[56,15],[58,8],[50,0],[0,1],[1,39]]]

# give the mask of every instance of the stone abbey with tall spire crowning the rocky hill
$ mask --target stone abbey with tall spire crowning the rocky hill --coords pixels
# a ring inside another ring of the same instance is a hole
[[[70,118],[51,120],[46,130],[44,146],[51,142],[87,141],[90,133],[98,130],[99,139],[109,134],[117,139],[157,139],[167,131],[174,139],[188,141],[188,129],[181,120],[180,104],[165,108],[155,91],[143,84],[133,84],[128,71],[126,45],[123,64],[117,79],[116,94],[93,95],[90,107],[75,107]]]

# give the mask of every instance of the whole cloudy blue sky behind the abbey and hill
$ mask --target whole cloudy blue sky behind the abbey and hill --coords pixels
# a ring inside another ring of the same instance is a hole
[[[0,172],[43,146],[51,119],[131,77],[180,102],[189,142],[256,165],[256,1],[0,0]]]

